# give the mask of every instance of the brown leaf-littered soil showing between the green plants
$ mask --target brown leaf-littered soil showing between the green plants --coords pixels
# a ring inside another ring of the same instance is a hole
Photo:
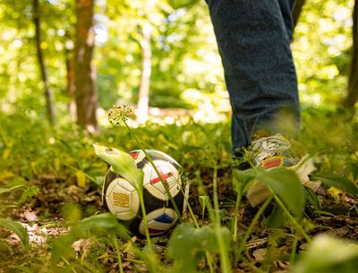
[[[228,173],[230,170],[221,170],[217,179],[219,189],[220,204],[226,207],[226,218],[230,218],[234,214],[234,192],[228,181]],[[221,174],[221,175],[220,175]],[[212,185],[210,175],[203,175],[202,180],[205,184],[209,195],[212,194]],[[4,228],[0,228],[0,236],[6,243],[12,245],[10,249],[3,249],[0,254],[3,266],[0,272],[17,272],[17,266],[21,265],[21,269],[33,260],[50,259],[48,252],[49,242],[51,238],[58,235],[64,235],[68,232],[68,227],[64,225],[63,208],[68,203],[79,204],[86,213],[90,211],[104,211],[101,204],[100,190],[96,185],[88,184],[86,187],[79,187],[75,181],[66,179],[65,177],[54,177],[51,175],[38,175],[34,180],[34,185],[38,186],[40,192],[21,208],[9,209],[9,217],[19,221],[25,226],[30,236],[30,245],[32,252],[24,253],[21,242],[17,236],[11,234]],[[14,200],[16,196],[13,196]],[[201,218],[201,207],[198,202],[198,192],[195,186],[191,188],[190,203],[197,219],[201,225],[209,222],[208,216]],[[320,233],[334,235],[345,239],[358,238],[358,201],[352,196],[340,192],[336,196],[332,196],[327,191],[320,191],[320,201],[322,211],[325,214],[312,215],[307,211],[306,217],[310,219],[311,227],[309,235],[314,236]],[[238,234],[243,235],[251,224],[251,220],[257,209],[252,209],[248,202],[244,199],[240,209],[240,220],[238,225]],[[269,210],[269,209],[268,209]],[[187,218],[189,220],[189,218]],[[223,222],[225,225],[225,221]],[[169,240],[170,232],[166,235],[158,237],[154,244],[156,252],[164,262],[168,262],[166,258],[166,244]],[[134,237],[135,238],[135,237]],[[140,245],[145,244],[145,240],[135,238]],[[306,243],[303,238],[298,242],[298,250],[304,250]],[[245,253],[247,260],[263,270],[263,272],[288,272],[289,262],[285,257],[290,255],[292,251],[293,237],[290,236],[289,228],[268,228],[263,225],[255,226],[253,233],[247,243],[247,252]],[[90,239],[80,240],[73,243],[72,247],[79,253],[89,252]],[[269,255],[268,255],[269,253]],[[112,253],[113,254],[113,253]],[[12,257],[7,260],[6,257]],[[117,263],[112,257],[110,251],[106,255],[98,258],[99,262],[104,266],[106,272],[117,272]],[[124,271],[146,271],[138,264],[133,264],[130,253],[124,253]],[[4,262],[4,260],[7,260]],[[135,262],[134,262],[135,263]],[[60,265],[61,267],[61,265]],[[19,271],[21,272],[21,270]],[[87,272],[84,270],[84,272]],[[234,269],[235,273],[252,272],[252,269],[245,262],[241,262]]]

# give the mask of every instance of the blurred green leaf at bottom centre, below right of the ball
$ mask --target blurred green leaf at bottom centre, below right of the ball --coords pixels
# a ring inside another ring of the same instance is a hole
[[[219,230],[226,245],[230,243],[230,232],[226,227]],[[209,226],[195,228],[183,223],[175,228],[168,243],[168,256],[174,260],[173,272],[195,273],[205,251],[217,253],[216,231]]]

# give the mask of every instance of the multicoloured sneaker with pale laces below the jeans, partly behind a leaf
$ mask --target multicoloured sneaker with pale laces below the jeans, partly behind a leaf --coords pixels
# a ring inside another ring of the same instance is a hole
[[[255,166],[269,170],[275,167],[287,167],[294,169],[301,183],[309,186],[313,191],[320,187],[320,183],[311,182],[308,175],[315,170],[311,158],[305,156],[300,159],[303,146],[294,140],[288,139],[282,134],[263,136],[259,134],[251,144],[251,155]],[[303,164],[301,164],[303,162]],[[264,183],[256,181],[247,192],[247,199],[252,207],[260,205],[268,198],[271,192]]]

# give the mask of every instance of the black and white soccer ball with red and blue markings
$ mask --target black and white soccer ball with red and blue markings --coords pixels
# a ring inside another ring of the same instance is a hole
[[[171,193],[177,208],[183,213],[186,207],[183,194],[188,196],[189,186],[183,185],[183,169],[175,159],[155,149],[148,149],[147,152],[157,166],[165,186],[141,149],[133,150],[129,154],[144,173],[143,199],[149,235],[160,235],[175,226],[179,218],[166,191]],[[133,234],[145,235],[138,192],[111,167],[103,183],[102,201],[105,208],[121,220]]]

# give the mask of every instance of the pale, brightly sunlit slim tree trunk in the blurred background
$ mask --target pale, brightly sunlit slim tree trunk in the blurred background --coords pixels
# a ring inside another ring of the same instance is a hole
[[[145,123],[147,121],[149,112],[149,85],[151,74],[151,26],[149,22],[144,24],[142,31],[143,39],[141,41],[141,85],[137,104],[137,121],[139,123]]]

